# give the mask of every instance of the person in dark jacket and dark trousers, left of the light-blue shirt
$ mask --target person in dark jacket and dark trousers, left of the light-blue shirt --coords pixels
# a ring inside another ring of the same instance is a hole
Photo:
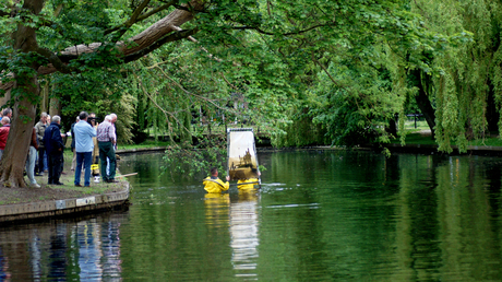
[[[47,151],[49,166],[49,184],[63,185],[59,181],[63,164],[64,143],[61,137],[61,118],[52,117],[52,122],[44,133],[44,144]]]

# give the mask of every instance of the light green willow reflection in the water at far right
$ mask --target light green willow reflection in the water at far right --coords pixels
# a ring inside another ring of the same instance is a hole
[[[489,200],[490,189],[500,190],[500,175],[494,183],[486,177],[492,165],[482,157],[476,162],[450,157],[438,167],[441,239],[451,243],[442,248],[444,269],[478,281],[499,280],[502,274],[500,267],[493,268],[494,261],[500,263],[501,249],[499,223],[493,221],[500,213],[493,213]]]

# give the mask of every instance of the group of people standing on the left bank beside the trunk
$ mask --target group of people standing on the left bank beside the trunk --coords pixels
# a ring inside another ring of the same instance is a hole
[[[0,127],[1,158],[10,132],[12,109],[3,109],[0,115],[2,124]],[[99,166],[103,180],[106,183],[117,181],[115,179],[117,168],[115,153],[117,149],[116,121],[117,115],[110,114],[98,125],[94,113],[88,115],[86,111],[82,111],[79,115],[79,121],[72,125],[72,150],[74,149],[76,158],[76,166],[72,165],[72,171],[74,169],[75,172],[75,186],[81,186],[80,181],[83,169],[85,171],[84,186],[88,187],[91,185],[91,164],[93,163],[93,151],[95,146],[98,148],[99,152]],[[53,116],[51,118],[47,113],[40,114],[40,119],[32,131],[26,160],[26,175],[29,179],[31,187],[39,188],[40,186],[37,184],[35,176],[44,176],[45,173],[48,173],[49,185],[63,185],[60,178],[61,174],[63,174],[63,138],[67,134],[61,133],[60,116]]]

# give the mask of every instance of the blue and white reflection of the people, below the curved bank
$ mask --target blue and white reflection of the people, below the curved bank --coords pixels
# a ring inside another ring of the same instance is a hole
[[[119,220],[98,216],[0,231],[0,281],[121,280]]]

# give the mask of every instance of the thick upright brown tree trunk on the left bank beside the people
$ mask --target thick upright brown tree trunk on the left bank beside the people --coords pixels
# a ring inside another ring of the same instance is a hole
[[[44,7],[44,0],[25,0],[23,9],[38,14]],[[13,36],[14,48],[23,54],[36,51],[38,44],[35,30],[20,24]],[[34,70],[38,66],[28,62]],[[26,156],[29,149],[33,125],[35,122],[35,105],[39,97],[39,86],[36,74],[16,75],[14,73],[14,90],[21,91],[23,95],[17,96],[14,103],[13,120],[7,140],[5,150],[0,161],[0,183],[5,187],[26,187],[23,177]]]

